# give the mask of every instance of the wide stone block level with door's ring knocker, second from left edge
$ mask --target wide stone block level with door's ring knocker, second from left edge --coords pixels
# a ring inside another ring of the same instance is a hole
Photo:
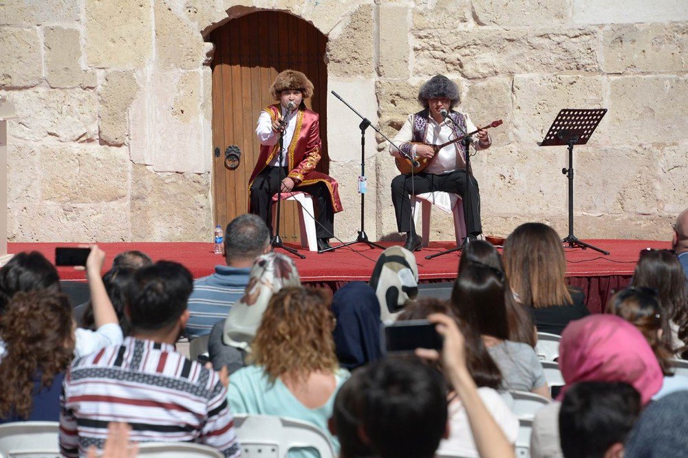
[[[107,146],[42,148],[41,197],[58,203],[114,202],[127,196],[129,152]]]

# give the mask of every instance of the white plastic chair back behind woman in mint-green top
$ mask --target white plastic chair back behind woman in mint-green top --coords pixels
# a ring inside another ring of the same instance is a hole
[[[330,439],[307,422],[272,415],[235,415],[234,426],[244,458],[286,458],[294,447],[312,447],[321,458],[335,456]]]

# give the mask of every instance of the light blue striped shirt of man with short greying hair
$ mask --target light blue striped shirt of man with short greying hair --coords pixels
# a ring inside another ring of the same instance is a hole
[[[215,273],[193,282],[186,323],[189,339],[210,334],[213,325],[227,317],[230,308],[244,295],[251,268],[215,266]]]

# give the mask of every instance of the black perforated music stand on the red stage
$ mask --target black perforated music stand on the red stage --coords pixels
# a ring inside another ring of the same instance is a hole
[[[568,147],[568,168],[561,169],[561,173],[568,175],[568,236],[561,241],[565,244],[568,243],[570,248],[590,248],[594,251],[599,251],[599,253],[608,255],[609,251],[581,242],[573,233],[573,146],[587,144],[590,135],[595,131],[597,125],[606,113],[607,108],[563,108],[563,110],[559,111],[557,117],[555,117],[543,141],[540,141],[538,145],[566,145]]]

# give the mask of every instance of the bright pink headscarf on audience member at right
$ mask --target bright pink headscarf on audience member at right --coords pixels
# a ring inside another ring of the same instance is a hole
[[[576,382],[626,382],[643,405],[662,387],[663,374],[643,334],[621,317],[593,314],[572,321],[561,334],[559,369],[566,386]]]

